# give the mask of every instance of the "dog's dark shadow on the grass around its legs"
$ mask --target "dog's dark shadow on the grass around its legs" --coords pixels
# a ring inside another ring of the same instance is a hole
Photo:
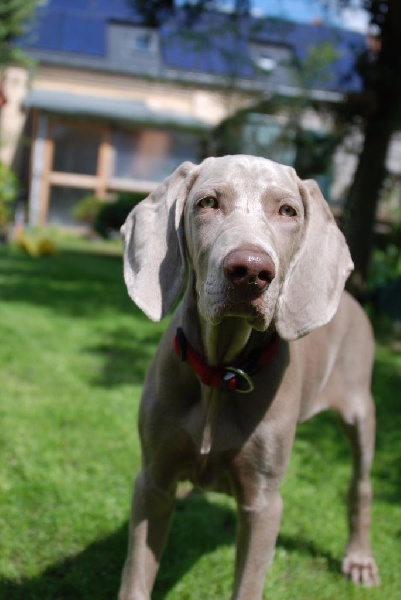
[[[111,600],[117,598],[127,548],[125,524],[109,537],[93,542],[76,556],[21,581],[0,580],[0,598],[7,600]],[[178,500],[152,600],[163,600],[205,554],[233,545],[235,513],[209,502],[202,494]],[[325,558],[329,571],[340,563],[311,540],[280,536],[278,547]],[[218,566],[216,566],[218,568]],[[232,565],[234,573],[234,564]],[[340,576],[340,575],[339,575]]]

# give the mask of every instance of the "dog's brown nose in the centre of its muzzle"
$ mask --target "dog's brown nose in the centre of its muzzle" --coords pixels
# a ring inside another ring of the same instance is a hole
[[[236,287],[255,286],[263,291],[274,279],[276,270],[270,256],[256,246],[232,250],[224,259],[224,273]]]

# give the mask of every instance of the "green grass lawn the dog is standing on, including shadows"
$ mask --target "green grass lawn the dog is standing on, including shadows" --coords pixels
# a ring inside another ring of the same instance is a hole
[[[116,598],[139,465],[136,413],[165,324],[128,299],[116,243],[59,241],[52,257],[0,249],[0,598]],[[299,428],[265,596],[400,597],[401,356],[378,342],[372,545],[382,585],[339,574],[348,449],[332,415]],[[229,598],[230,500],[179,500],[153,598]],[[250,599],[251,600],[251,599]]]

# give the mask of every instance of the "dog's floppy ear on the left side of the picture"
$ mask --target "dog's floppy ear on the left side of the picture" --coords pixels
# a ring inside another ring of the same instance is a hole
[[[153,321],[167,314],[183,282],[182,216],[195,171],[190,162],[180,165],[135,206],[121,228],[128,293]]]

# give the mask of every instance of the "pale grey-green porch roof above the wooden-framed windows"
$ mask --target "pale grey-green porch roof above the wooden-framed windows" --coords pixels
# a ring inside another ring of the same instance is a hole
[[[167,111],[152,111],[146,104],[136,100],[116,100],[88,95],[57,92],[52,90],[32,90],[23,101],[26,108],[40,108],[55,114],[72,114],[84,117],[102,117],[112,120],[163,125],[175,128],[210,129],[211,125],[182,114]]]

